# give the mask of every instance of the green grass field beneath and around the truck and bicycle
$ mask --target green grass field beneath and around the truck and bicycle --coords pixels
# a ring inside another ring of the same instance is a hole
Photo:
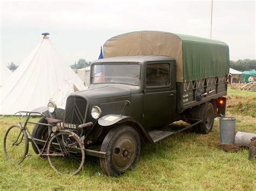
[[[227,116],[237,118],[236,130],[256,133],[256,92],[228,90],[227,99]],[[218,119],[207,135],[188,131],[157,145],[142,144],[136,168],[118,178],[103,175],[99,160],[92,157],[86,158],[76,176],[58,175],[47,160],[36,156],[12,165],[3,153],[3,137],[8,126],[17,122],[15,117],[0,117],[0,189],[255,190],[256,160],[247,159],[245,148],[236,153],[221,151]],[[31,145],[29,152],[33,153]]]

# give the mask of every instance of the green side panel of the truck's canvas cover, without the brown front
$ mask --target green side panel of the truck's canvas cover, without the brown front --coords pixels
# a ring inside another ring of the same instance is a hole
[[[227,44],[188,35],[177,36],[183,42],[184,81],[228,74],[230,58]]]

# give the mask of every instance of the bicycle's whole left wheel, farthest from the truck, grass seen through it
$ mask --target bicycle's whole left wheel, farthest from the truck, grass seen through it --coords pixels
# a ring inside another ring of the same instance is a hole
[[[21,163],[28,154],[29,142],[25,130],[17,125],[10,126],[4,135],[4,154],[8,161]]]

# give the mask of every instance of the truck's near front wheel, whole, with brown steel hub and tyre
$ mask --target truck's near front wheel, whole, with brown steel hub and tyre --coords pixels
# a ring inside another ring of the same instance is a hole
[[[140,153],[138,133],[130,126],[113,128],[107,133],[100,148],[106,158],[100,158],[103,173],[118,176],[135,167]]]

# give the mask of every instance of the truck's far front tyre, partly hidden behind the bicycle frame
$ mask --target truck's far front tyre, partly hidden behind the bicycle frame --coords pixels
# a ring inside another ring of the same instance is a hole
[[[37,122],[41,122],[42,124],[48,124],[48,122],[44,119],[41,118],[39,121]],[[31,133],[32,138],[36,138],[36,139],[43,139],[43,133],[44,131],[46,131],[47,135],[48,135],[48,126],[43,126],[43,125],[35,125],[33,128],[33,131]],[[43,139],[46,141],[46,139]],[[38,154],[37,148],[36,146],[33,144],[33,142],[31,143],[33,151]],[[43,148],[43,145],[37,145],[39,149]]]

